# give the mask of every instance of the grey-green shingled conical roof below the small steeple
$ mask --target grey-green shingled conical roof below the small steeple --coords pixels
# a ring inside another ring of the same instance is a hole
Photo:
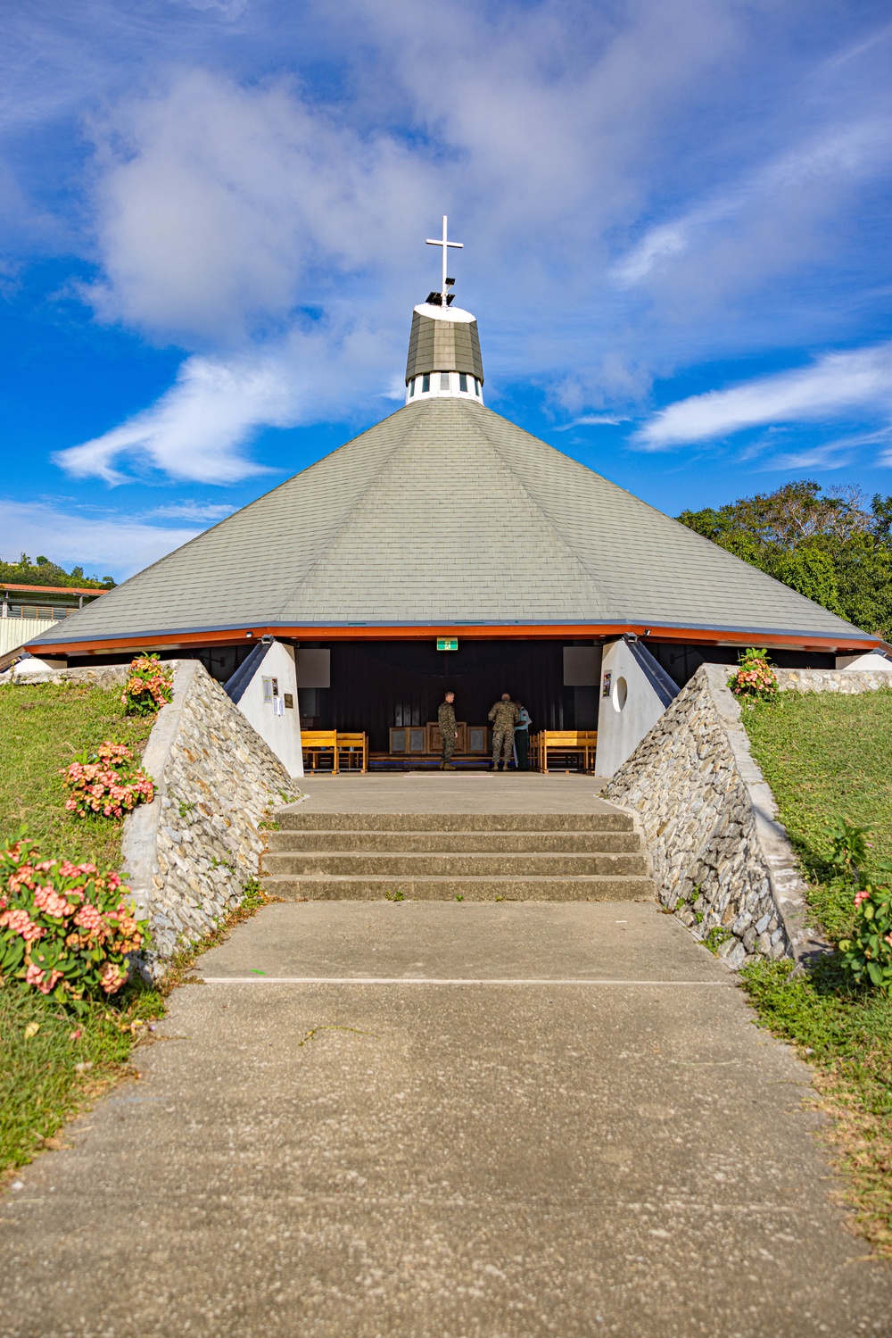
[[[469,399],[408,404],[51,628],[646,625],[875,641]]]

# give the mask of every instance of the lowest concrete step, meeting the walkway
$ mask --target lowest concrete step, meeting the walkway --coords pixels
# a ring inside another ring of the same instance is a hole
[[[385,875],[329,876],[275,874],[263,879],[271,896],[296,900],[382,900],[397,892],[407,900],[468,902],[649,902],[650,878],[587,875],[578,878],[393,878]]]

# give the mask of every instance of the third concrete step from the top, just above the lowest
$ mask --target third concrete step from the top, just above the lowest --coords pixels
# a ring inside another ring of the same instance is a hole
[[[590,874],[639,874],[647,876],[645,855],[610,854],[369,854],[368,851],[297,851],[267,854],[267,874],[324,874],[365,878],[576,878]]]

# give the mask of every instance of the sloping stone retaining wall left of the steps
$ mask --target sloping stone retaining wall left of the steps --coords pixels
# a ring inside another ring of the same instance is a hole
[[[174,700],[142,764],[155,799],[124,819],[123,868],[151,923],[147,971],[159,975],[241,902],[265,848],[259,824],[294,783],[197,660],[174,661]]]

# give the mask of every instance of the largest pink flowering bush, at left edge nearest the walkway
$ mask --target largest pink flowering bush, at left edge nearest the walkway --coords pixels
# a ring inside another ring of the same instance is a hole
[[[24,981],[59,1002],[116,994],[148,929],[128,894],[114,870],[41,860],[32,840],[0,850],[0,983]]]

